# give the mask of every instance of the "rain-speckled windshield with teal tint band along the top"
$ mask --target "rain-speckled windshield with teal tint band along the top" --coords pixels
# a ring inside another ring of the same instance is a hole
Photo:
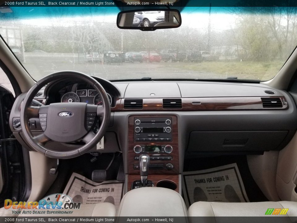
[[[181,27],[152,32],[119,29],[117,7],[11,10],[0,13],[0,34],[35,80],[75,70],[108,80],[265,81],[297,45],[297,13],[290,7],[185,7]],[[133,26],[164,21],[164,12],[134,16]]]

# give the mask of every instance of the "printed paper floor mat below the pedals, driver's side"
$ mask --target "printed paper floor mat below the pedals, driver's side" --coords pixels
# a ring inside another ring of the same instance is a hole
[[[72,173],[63,194],[70,196],[73,202],[82,204],[109,202],[118,208],[123,191],[124,182],[113,180],[97,183],[78,173]]]

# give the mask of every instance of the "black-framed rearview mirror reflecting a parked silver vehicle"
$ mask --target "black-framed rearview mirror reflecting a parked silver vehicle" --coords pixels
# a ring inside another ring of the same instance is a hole
[[[117,26],[121,29],[153,31],[178,28],[182,24],[180,12],[175,9],[133,10],[118,13]]]

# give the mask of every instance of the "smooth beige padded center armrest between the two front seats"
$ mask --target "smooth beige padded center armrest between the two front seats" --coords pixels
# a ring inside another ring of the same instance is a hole
[[[118,216],[187,216],[187,208],[179,193],[162,187],[142,187],[123,196]]]

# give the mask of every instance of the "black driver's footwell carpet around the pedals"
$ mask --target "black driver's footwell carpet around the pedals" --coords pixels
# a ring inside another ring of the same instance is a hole
[[[96,169],[106,169],[113,158],[113,153],[104,153],[98,155],[97,160],[93,163],[90,161],[93,158],[90,154],[84,154],[79,157],[59,160],[59,172],[56,180],[46,192],[46,195],[51,195],[54,193],[62,193],[71,174],[79,173],[80,175],[92,179],[92,172]],[[121,153],[116,153],[115,158],[111,166],[107,170],[106,180],[116,180],[118,169],[123,162],[123,157]]]

